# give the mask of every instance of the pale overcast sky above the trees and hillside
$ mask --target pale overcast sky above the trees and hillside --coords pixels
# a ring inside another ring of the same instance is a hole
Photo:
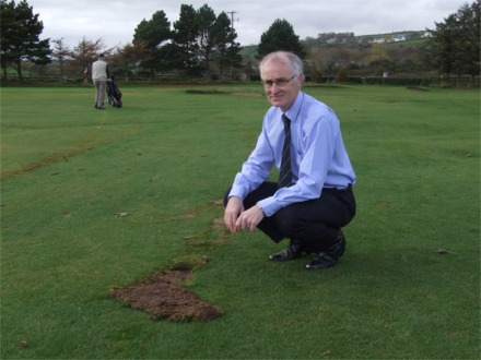
[[[180,5],[198,10],[208,4],[219,15],[234,12],[241,45],[259,44],[277,19],[285,19],[301,39],[320,33],[372,35],[435,28],[466,0],[27,0],[44,22],[40,39],[63,38],[73,47],[85,37],[102,38],[107,47],[132,41],[137,25],[163,10],[173,24]]]

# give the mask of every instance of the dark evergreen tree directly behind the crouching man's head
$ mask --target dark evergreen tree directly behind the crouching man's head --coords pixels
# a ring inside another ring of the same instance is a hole
[[[260,36],[260,44],[257,48],[257,59],[277,50],[285,50],[296,53],[304,59],[306,52],[294,33],[294,28],[286,20],[275,20],[269,29]]]

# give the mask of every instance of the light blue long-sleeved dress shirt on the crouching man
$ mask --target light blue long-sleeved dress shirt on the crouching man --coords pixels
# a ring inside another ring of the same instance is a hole
[[[259,202],[267,216],[290,204],[318,199],[324,188],[345,189],[355,183],[339,120],[328,106],[300,92],[285,115],[291,120],[293,185]],[[274,165],[279,169],[283,143],[282,111],[271,107],[263,118],[256,148],[236,175],[230,196],[244,200],[269,178]]]

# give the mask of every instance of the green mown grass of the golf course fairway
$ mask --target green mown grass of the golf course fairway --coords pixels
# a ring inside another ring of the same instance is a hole
[[[285,242],[215,225],[260,86],[120,87],[104,111],[92,88],[1,89],[2,359],[480,358],[478,91],[305,88],[336,110],[359,178],[347,253],[306,272],[268,261]],[[202,256],[185,287],[215,321],[153,321],[110,295]]]

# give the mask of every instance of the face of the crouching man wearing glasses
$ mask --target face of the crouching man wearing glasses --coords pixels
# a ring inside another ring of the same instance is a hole
[[[302,74],[295,74],[288,59],[266,62],[261,73],[267,98],[272,106],[288,111],[301,91]]]

